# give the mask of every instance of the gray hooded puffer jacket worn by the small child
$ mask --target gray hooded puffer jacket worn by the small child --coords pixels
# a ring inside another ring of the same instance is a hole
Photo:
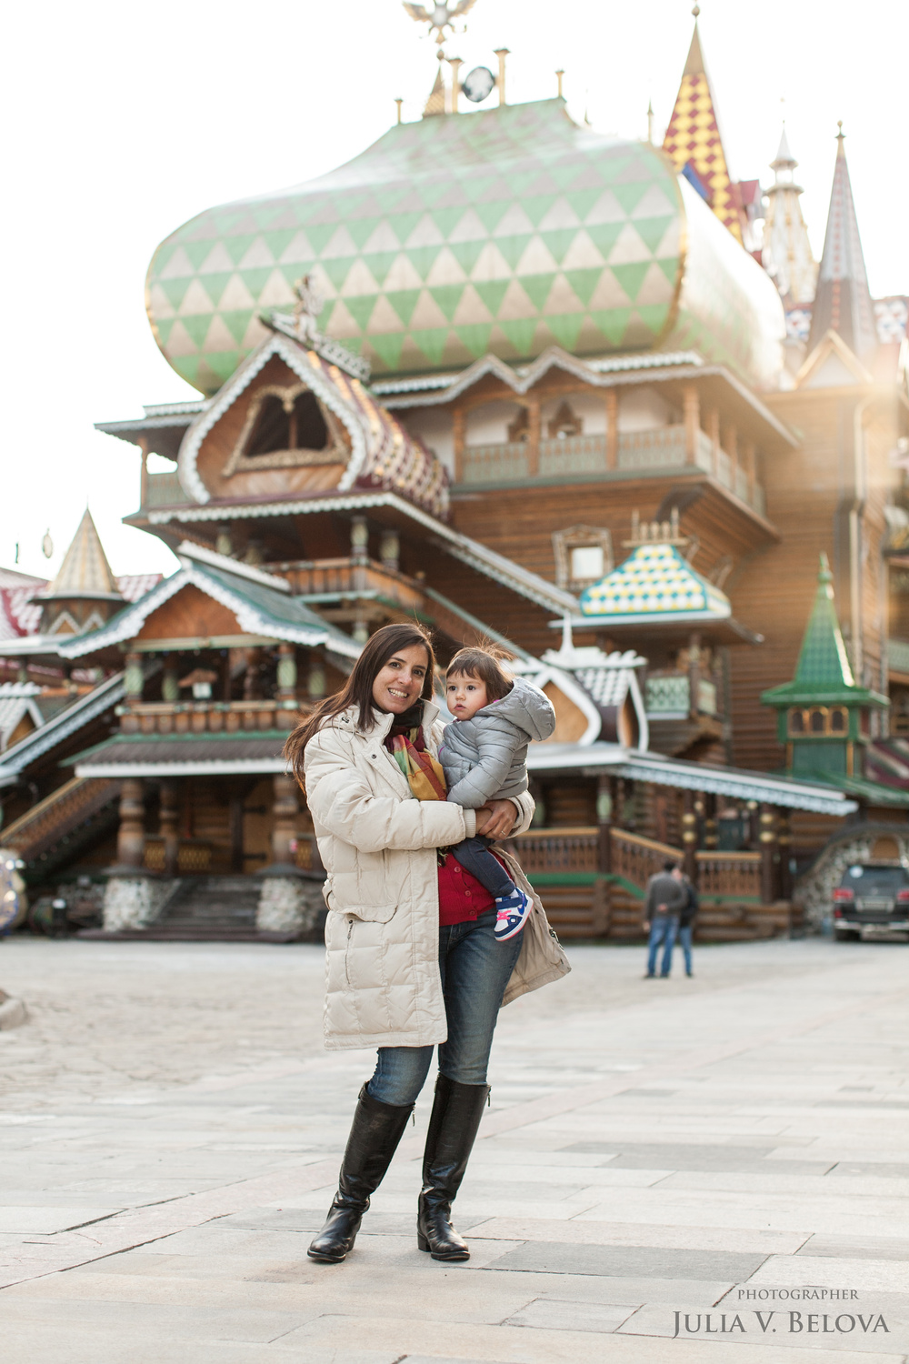
[[[506,801],[527,790],[527,745],[548,739],[556,712],[536,686],[522,678],[500,701],[491,701],[470,720],[446,724],[439,757],[448,799],[467,810],[487,801]]]

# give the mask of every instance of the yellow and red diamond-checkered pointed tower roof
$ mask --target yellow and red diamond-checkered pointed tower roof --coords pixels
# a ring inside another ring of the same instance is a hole
[[[695,188],[706,190],[710,207],[741,244],[739,186],[729,177],[722,150],[713,90],[700,53],[696,10],[695,5],[695,31],[662,150]]]

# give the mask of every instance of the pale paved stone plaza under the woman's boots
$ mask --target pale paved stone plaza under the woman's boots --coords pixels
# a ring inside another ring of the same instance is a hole
[[[322,1050],[322,951],[0,943],[4,1364],[905,1360],[909,948],[570,955],[502,1015],[470,1263],[416,1248],[427,1091],[320,1266],[371,1061]]]

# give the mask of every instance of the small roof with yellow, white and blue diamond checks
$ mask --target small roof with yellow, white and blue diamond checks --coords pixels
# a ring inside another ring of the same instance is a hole
[[[581,614],[615,623],[728,621],[729,599],[685,563],[675,544],[639,544],[581,593]]]

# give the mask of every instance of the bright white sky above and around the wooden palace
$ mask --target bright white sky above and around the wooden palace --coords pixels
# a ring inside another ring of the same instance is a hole
[[[643,136],[651,98],[660,140],[690,8],[477,0],[448,50],[466,71],[508,46],[510,102],[553,95],[564,67],[572,112],[604,132]],[[435,76],[424,31],[399,0],[11,7],[0,565],[18,542],[19,569],[50,576],[89,502],[114,573],[174,566],[120,525],[138,505],[138,451],[91,426],[195,396],[146,322],[151,252],[203,209],[349,160],[392,121],[395,95],[418,117]],[[771,180],[785,115],[819,255],[842,119],[872,293],[909,292],[906,0],[703,0],[700,37],[733,176]]]

